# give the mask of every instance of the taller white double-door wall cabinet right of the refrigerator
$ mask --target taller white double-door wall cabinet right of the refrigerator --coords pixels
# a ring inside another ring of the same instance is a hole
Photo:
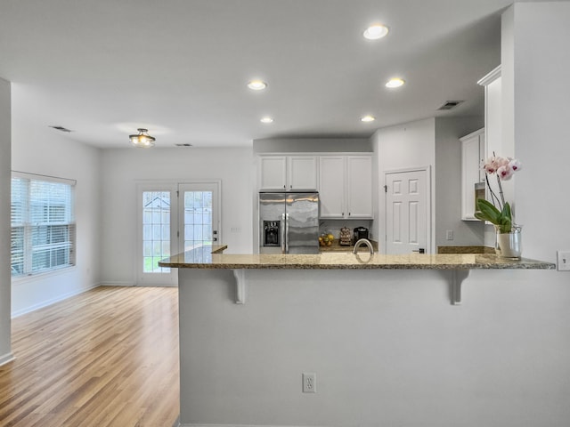
[[[319,158],[321,218],[372,219],[372,157]]]

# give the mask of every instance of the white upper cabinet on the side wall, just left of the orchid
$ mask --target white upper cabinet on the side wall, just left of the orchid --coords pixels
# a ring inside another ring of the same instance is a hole
[[[475,184],[485,182],[481,165],[485,160],[485,129],[460,138],[461,141],[461,219],[478,221],[475,213]]]

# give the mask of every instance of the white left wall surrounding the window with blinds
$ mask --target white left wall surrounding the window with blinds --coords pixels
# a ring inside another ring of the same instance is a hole
[[[65,133],[30,125],[38,114],[28,87],[12,84],[12,170],[77,181],[77,265],[12,280],[12,315],[36,310],[99,285],[100,151],[70,141]],[[59,124],[59,123],[58,123]]]

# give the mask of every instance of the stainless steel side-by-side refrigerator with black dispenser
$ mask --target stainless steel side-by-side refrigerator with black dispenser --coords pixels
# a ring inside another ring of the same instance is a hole
[[[319,193],[259,193],[260,254],[319,253]]]

